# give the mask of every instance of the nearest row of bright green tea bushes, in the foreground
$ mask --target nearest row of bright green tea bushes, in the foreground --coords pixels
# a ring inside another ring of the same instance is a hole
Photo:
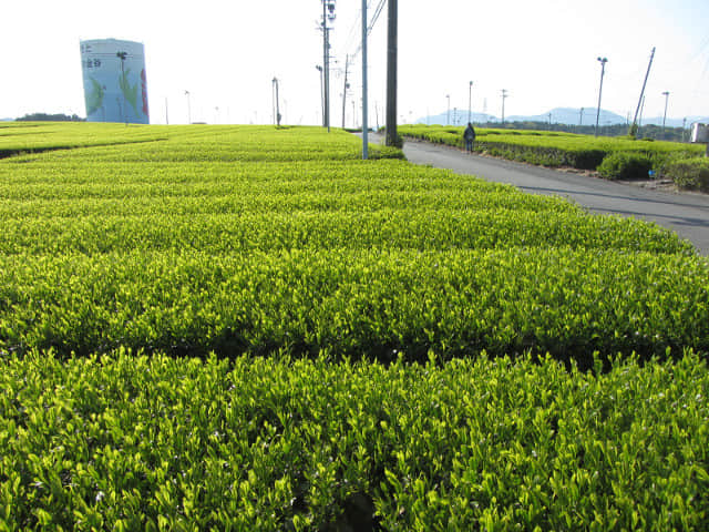
[[[709,528],[699,356],[430,357],[3,357],[0,530]]]

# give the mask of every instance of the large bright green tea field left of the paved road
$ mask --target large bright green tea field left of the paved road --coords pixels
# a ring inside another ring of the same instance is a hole
[[[709,526],[709,262],[372,147],[0,125],[0,531]]]

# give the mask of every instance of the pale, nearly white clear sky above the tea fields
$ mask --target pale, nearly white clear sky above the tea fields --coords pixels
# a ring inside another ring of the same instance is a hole
[[[370,16],[380,0],[370,0]],[[336,0],[331,123],[342,122],[346,54],[361,37],[360,0]],[[2,7],[0,119],[32,112],[85,116],[79,41],[126,39],[146,53],[151,122],[269,123],[279,79],[287,123],[321,122],[321,0],[22,0]],[[653,47],[645,116],[709,116],[707,0],[400,0],[399,116],[451,108],[500,116],[555,106],[634,113]],[[370,124],[383,122],[387,8],[369,39]],[[361,54],[350,66],[361,98]],[[351,125],[352,99],[347,102]],[[359,119],[358,119],[359,120]]]

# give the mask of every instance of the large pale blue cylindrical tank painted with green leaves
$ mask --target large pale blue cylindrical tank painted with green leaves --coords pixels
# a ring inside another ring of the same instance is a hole
[[[99,39],[80,48],[86,120],[148,124],[143,44]]]

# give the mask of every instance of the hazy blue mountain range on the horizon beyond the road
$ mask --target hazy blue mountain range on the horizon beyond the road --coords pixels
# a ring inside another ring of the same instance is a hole
[[[582,114],[583,109],[583,114]],[[549,117],[551,114],[551,117]],[[596,124],[596,108],[555,108],[544,114],[534,114],[534,115],[511,115],[505,116],[505,122],[552,122],[553,124],[565,124],[565,125],[595,125]],[[417,120],[418,124],[441,124],[444,125],[446,123],[451,125],[464,125],[467,122],[467,111],[451,111],[450,115],[448,112],[435,114],[431,116],[424,116],[422,119]],[[474,123],[484,123],[484,122],[502,122],[502,120],[497,116],[493,116],[491,114],[484,113],[473,113],[473,122]],[[662,117],[643,117],[639,120],[641,125],[647,124],[656,124],[662,125]],[[671,119],[667,117],[666,125],[668,127],[681,127],[682,124],[686,124],[689,127],[690,124],[695,122],[709,123],[709,116],[687,116],[686,122],[685,119]],[[613,124],[627,124],[628,117],[620,116],[619,114],[614,113],[613,111],[607,111],[605,109],[600,110],[598,116],[599,125],[613,125]]]

